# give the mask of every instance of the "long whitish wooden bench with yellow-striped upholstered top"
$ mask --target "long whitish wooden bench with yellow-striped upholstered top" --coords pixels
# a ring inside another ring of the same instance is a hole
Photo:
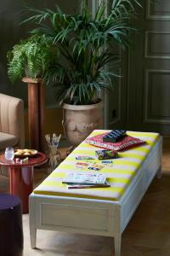
[[[103,132],[94,131],[89,137]],[[146,143],[120,152],[113,166],[99,171],[106,173],[111,187],[67,189],[62,183],[67,172],[77,172],[75,156],[94,156],[99,149],[84,141],[33,191],[30,195],[32,248],[36,247],[37,229],[61,230],[113,236],[115,255],[121,255],[122,232],[156,173],[161,175],[160,135],[133,131],[127,134]]]

